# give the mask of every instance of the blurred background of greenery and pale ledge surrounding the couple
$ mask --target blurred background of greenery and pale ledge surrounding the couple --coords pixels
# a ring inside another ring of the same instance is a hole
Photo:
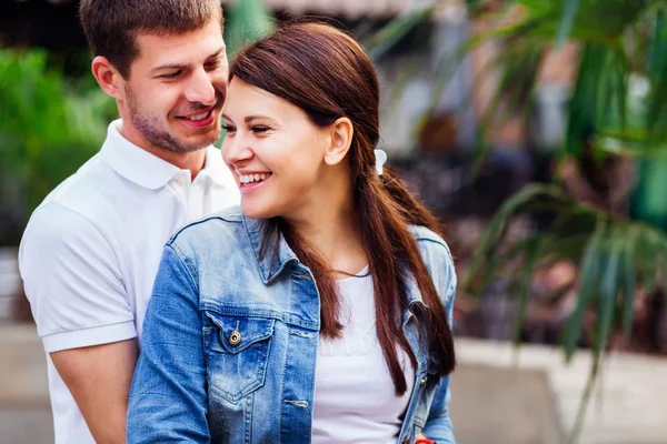
[[[457,262],[461,444],[667,443],[667,1],[226,0],[233,51],[315,16],[367,49],[381,142]],[[0,2],[0,442],[52,442],[18,275],[115,103],[77,0]]]

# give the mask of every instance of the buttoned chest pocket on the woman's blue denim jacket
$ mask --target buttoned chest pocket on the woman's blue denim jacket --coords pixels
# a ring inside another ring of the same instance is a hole
[[[207,342],[209,385],[237,404],[265,383],[276,320],[205,313],[216,326]]]

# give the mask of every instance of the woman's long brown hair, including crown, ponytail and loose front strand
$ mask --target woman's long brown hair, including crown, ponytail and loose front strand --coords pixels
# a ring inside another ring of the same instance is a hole
[[[347,117],[355,132],[348,161],[354,181],[354,209],[375,285],[377,335],[397,394],[407,390],[398,344],[417,361],[402,332],[408,306],[406,284],[414,276],[426,306],[420,312],[431,362],[440,374],[455,366],[454,342],[447,314],[417,241],[408,225],[438,231],[432,214],[412,196],[389,168],[375,170],[379,140],[379,87],[368,56],[349,36],[323,23],[292,23],[245,48],[230,68],[230,77],[266,90],[302,109],[313,124],[327,127]],[[280,219],[266,221],[265,245],[281,233],[307,265],[320,293],[321,334],[339,337],[340,301],[330,264]],[[266,248],[262,249],[266,252]]]

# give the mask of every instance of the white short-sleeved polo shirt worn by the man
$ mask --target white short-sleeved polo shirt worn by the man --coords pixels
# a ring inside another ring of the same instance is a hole
[[[48,353],[132,337],[141,325],[162,246],[181,225],[239,203],[220,151],[189,170],[127,141],[120,120],[98,154],[30,218],[19,266],[48,359],[57,444],[94,441]]]

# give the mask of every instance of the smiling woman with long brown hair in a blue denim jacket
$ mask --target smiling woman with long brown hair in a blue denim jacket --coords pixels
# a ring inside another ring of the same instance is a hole
[[[454,443],[456,275],[384,163],[378,81],[350,37],[291,24],[230,68],[240,211],[168,242],[128,442]]]

